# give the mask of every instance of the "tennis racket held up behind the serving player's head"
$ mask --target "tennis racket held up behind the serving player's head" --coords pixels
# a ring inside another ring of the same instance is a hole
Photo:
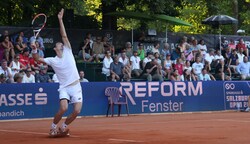
[[[44,28],[46,22],[47,22],[47,16],[44,13],[37,14],[33,18],[31,25],[35,39],[37,38],[40,31]]]

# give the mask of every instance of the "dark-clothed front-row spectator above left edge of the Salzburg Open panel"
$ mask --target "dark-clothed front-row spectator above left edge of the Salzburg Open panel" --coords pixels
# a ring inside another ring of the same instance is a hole
[[[229,76],[225,74],[227,72]],[[224,60],[220,60],[219,64],[215,68],[215,74],[216,77],[218,77],[221,80],[231,80],[231,71],[228,66],[225,65]]]

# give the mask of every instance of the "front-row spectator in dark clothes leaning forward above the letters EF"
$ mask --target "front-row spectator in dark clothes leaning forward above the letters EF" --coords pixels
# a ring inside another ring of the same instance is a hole
[[[147,81],[163,81],[160,65],[155,60],[145,65],[140,77],[142,79],[147,79]]]

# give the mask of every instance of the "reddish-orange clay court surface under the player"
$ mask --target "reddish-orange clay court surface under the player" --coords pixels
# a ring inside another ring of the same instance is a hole
[[[0,122],[1,144],[249,144],[250,113],[78,118],[71,136],[49,138],[49,120]]]

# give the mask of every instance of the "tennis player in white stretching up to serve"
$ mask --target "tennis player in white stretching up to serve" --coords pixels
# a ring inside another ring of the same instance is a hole
[[[65,27],[63,24],[64,9],[58,14],[60,24],[60,33],[62,41],[56,43],[54,50],[55,57],[40,58],[37,54],[37,48],[32,44],[32,55],[35,60],[44,62],[50,65],[55,71],[59,80],[59,99],[60,108],[54,116],[49,135],[51,137],[58,135],[69,135],[68,125],[73,122],[82,108],[82,88],[79,82],[79,74],[76,67],[75,59],[72,53],[70,42],[67,38]],[[58,123],[62,119],[63,114],[68,109],[68,104],[73,104],[73,112],[62,123],[62,126],[57,128]]]

